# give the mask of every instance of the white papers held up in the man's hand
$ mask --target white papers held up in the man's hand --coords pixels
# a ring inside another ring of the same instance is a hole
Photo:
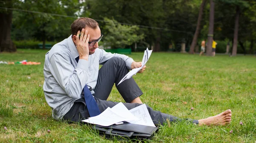
[[[121,81],[117,84],[119,85],[120,83],[122,83],[122,81],[126,80],[126,79],[130,79],[133,75],[136,75],[136,73],[138,73],[142,68],[143,66],[148,62],[148,59],[150,57],[152,53],[152,50],[148,50],[148,48],[144,51],[144,56],[143,56],[143,59],[142,59],[142,62],[141,62],[141,67],[138,67],[138,68],[135,68],[133,70],[131,70],[129,73],[127,73],[122,79]]]

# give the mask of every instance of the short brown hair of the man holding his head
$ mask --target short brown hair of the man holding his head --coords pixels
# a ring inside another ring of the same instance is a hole
[[[95,20],[88,17],[81,17],[71,24],[71,33],[73,36],[76,35],[78,31],[82,31],[83,28],[90,27],[96,29],[98,26],[99,23]]]

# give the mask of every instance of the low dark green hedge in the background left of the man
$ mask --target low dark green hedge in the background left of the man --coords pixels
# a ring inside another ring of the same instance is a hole
[[[17,48],[20,49],[38,49],[38,44],[42,44],[42,41],[13,41]],[[51,44],[52,46],[55,45],[57,42],[46,42],[45,44]]]

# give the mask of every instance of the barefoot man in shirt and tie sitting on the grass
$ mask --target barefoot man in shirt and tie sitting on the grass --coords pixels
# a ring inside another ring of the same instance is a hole
[[[99,49],[98,42],[103,35],[95,20],[79,18],[71,25],[71,32],[71,36],[54,45],[46,53],[44,94],[47,104],[52,108],[54,119],[80,122],[94,116],[92,114],[98,112],[96,108],[100,113],[118,104],[106,101],[113,84],[117,85],[129,70],[141,65],[128,56],[106,53],[105,50]],[[103,64],[100,70],[99,64]],[[144,70],[145,67],[140,73]],[[132,109],[141,105],[139,96],[142,92],[134,79],[127,79],[116,88],[128,102],[124,103],[125,107]],[[89,98],[93,100],[87,102]],[[96,107],[92,108],[92,103],[95,102]],[[147,108],[155,124],[163,124],[167,118],[169,121],[180,120],[172,115],[154,111],[148,106]],[[191,121],[200,125],[230,123],[231,110]]]

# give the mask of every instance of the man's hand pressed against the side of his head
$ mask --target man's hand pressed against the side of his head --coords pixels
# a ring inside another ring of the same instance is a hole
[[[80,34],[80,31],[78,31],[76,35],[76,48],[79,53],[79,59],[85,59],[88,61],[88,56],[89,56],[88,42],[90,39],[90,35],[88,34],[88,31],[84,32],[84,28],[81,31],[80,39],[79,39],[79,34]]]

